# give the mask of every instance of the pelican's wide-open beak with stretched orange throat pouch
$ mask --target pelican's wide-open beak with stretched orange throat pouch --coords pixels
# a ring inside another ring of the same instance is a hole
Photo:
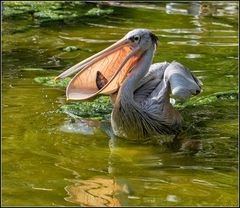
[[[67,99],[70,100],[84,100],[98,94],[112,94],[119,89],[120,84],[140,57],[140,49],[134,48],[129,39],[123,38],[72,66],[56,79],[78,72],[66,90]]]

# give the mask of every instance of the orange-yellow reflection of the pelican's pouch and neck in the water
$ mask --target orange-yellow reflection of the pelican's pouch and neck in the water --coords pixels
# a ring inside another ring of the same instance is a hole
[[[81,126],[84,126],[86,130],[88,128],[99,128],[98,122],[91,122],[90,120],[82,120],[83,122]],[[80,121],[77,122],[79,126]],[[95,126],[95,125],[96,126]],[[71,125],[72,127],[72,125]],[[67,191],[68,195],[65,197],[66,201],[69,201],[74,204],[79,205],[87,205],[87,206],[121,206],[120,200],[117,198],[118,195],[121,194],[129,194],[129,188],[128,186],[121,181],[120,183],[117,182],[113,175],[113,167],[112,167],[112,153],[114,151],[115,143],[115,137],[112,134],[110,123],[107,124],[104,123],[103,131],[110,136],[109,141],[109,148],[110,148],[110,154],[109,154],[109,160],[108,160],[108,176],[95,176],[93,178],[89,178],[87,180],[83,179],[73,179],[69,180],[73,184],[68,185],[65,187],[65,190]],[[84,130],[84,132],[85,132]],[[73,130],[73,132],[76,132]]]

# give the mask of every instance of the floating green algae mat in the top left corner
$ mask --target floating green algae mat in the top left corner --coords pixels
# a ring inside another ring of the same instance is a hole
[[[4,2],[4,18],[32,19],[36,22],[83,21],[85,18],[106,16],[113,9],[96,8],[94,4],[84,2]]]

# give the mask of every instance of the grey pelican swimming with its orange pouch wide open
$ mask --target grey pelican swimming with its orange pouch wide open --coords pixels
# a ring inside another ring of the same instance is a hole
[[[186,100],[201,91],[201,81],[178,62],[152,64],[158,38],[147,29],[134,29],[103,51],[61,73],[73,73],[68,100],[110,95],[111,126],[116,136],[143,140],[175,134],[183,119],[172,97]]]

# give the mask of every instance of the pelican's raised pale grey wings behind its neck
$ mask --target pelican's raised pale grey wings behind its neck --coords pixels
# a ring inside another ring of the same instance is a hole
[[[162,62],[151,65],[149,72],[139,82],[134,100],[144,106],[162,102],[169,89],[173,97],[186,100],[201,91],[202,82],[182,64]]]

